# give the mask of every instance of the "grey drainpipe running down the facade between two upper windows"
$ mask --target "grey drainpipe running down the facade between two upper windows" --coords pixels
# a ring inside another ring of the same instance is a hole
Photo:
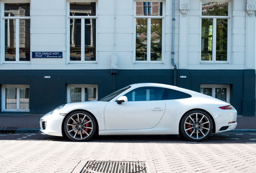
[[[177,85],[177,66],[174,62],[174,35],[175,35],[175,0],[172,0],[172,40],[171,40],[171,64],[174,67],[173,85]]]

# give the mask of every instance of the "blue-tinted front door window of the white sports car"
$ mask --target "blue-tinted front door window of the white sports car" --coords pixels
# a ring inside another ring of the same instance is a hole
[[[127,93],[128,101],[158,101],[162,99],[163,88],[140,87]]]

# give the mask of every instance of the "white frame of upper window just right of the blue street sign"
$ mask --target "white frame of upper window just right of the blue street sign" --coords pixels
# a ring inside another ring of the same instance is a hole
[[[70,2],[96,2],[96,16],[70,16]],[[99,24],[98,24],[98,20],[97,20],[97,18],[98,18],[98,1],[97,0],[68,0],[67,1],[67,33],[68,34],[66,34],[67,35],[67,37],[66,37],[66,40],[67,40],[67,47],[66,47],[66,49],[67,49],[67,64],[81,64],[81,63],[85,63],[85,64],[97,64],[98,63],[98,61],[99,61],[99,53],[98,53],[98,32],[97,32],[97,30],[98,30],[98,26],[99,26]],[[71,18],[74,18],[74,19],[81,19],[81,61],[72,61],[72,60],[70,60],[70,19]],[[95,19],[96,20],[96,33],[95,33],[95,36],[96,36],[96,39],[95,39],[95,41],[96,41],[96,43],[95,43],[95,47],[96,47],[96,60],[91,60],[91,61],[86,61],[85,60],[85,54],[84,53],[82,53],[82,52],[85,52],[85,45],[84,44],[82,44],[82,43],[84,43],[85,42],[85,20],[83,20],[83,19]],[[83,26],[83,27],[82,27]]]

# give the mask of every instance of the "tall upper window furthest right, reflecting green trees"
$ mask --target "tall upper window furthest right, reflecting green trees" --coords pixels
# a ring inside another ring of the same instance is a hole
[[[229,2],[202,2],[201,62],[228,61]]]

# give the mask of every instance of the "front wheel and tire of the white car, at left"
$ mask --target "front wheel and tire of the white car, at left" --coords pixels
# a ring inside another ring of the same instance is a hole
[[[91,139],[95,134],[96,128],[95,118],[85,111],[73,112],[64,121],[66,136],[76,142],[84,142]]]

